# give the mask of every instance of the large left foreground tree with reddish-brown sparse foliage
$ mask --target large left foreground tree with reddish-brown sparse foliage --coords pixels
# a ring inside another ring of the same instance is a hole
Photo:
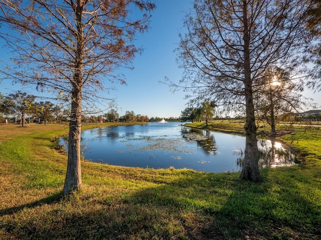
[[[16,65],[3,70],[8,79],[56,90],[60,99],[70,101],[63,194],[82,185],[82,108],[98,97],[107,80],[125,83],[112,70],[130,67],[141,50],[132,41],[147,30],[147,13],[154,7],[149,0],[0,0],[0,23],[15,31],[2,37],[18,53],[13,55]]]

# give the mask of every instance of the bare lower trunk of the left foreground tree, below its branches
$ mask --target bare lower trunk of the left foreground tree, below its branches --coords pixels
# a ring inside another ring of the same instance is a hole
[[[82,184],[80,166],[80,135],[81,92],[80,90],[74,90],[69,123],[67,173],[65,178],[63,194],[68,194],[73,190],[79,189]]]

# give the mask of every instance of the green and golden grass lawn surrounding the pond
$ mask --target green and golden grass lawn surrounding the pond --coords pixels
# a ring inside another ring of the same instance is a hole
[[[82,189],[61,197],[67,156],[53,146],[67,130],[0,125],[0,239],[321,239],[320,128],[283,136],[305,163],[263,169],[259,183],[82,161]]]

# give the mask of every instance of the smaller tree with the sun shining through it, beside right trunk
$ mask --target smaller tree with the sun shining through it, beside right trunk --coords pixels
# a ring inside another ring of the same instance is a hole
[[[302,110],[302,95],[297,93],[297,84],[290,79],[290,74],[281,68],[266,71],[259,89],[255,91],[255,102],[259,115],[271,126],[275,134],[275,125],[284,119],[282,116]]]

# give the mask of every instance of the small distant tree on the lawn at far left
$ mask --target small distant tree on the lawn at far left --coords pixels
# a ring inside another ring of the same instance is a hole
[[[5,107],[9,114],[18,114],[21,117],[22,126],[25,126],[26,113],[33,108],[33,104],[36,97],[30,95],[27,92],[16,91],[15,93],[10,93],[5,101]]]

